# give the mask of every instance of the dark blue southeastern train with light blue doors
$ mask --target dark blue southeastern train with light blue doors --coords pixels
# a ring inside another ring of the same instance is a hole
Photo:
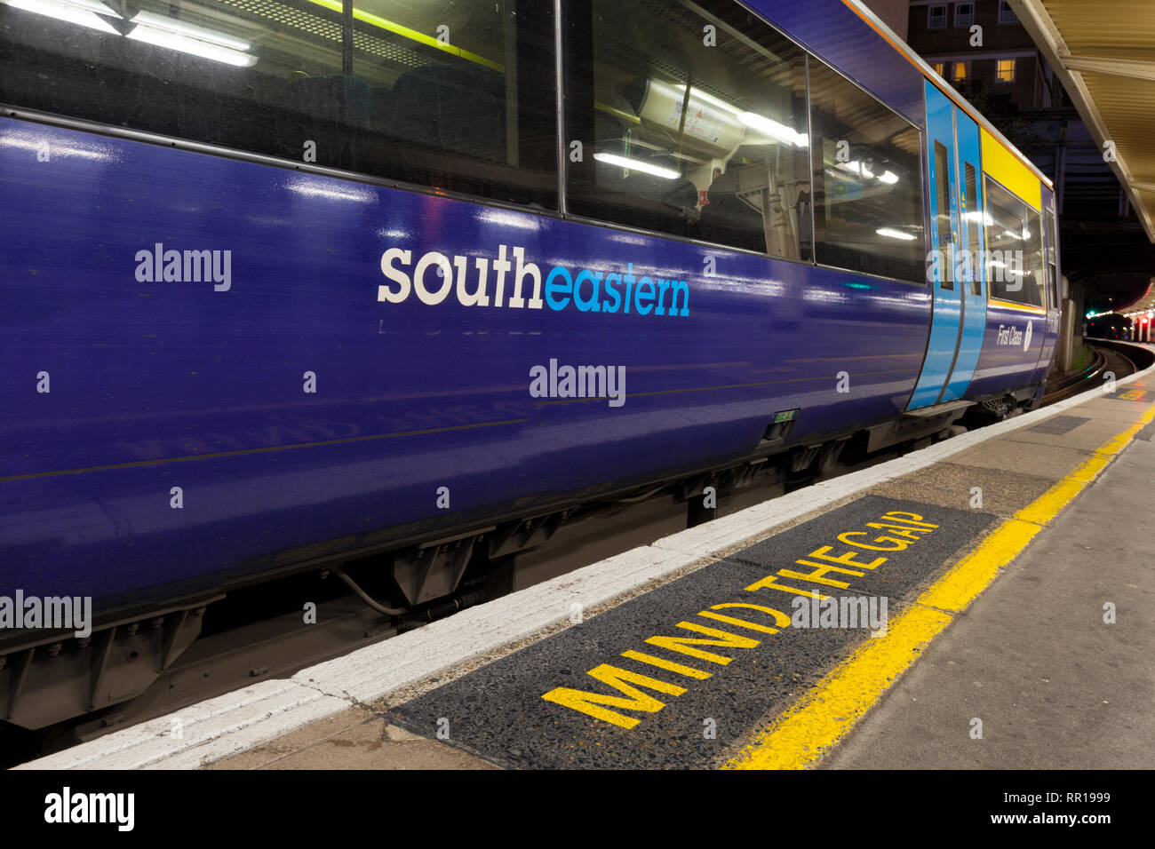
[[[411,608],[578,505],[1042,396],[1051,186],[857,0],[0,0],[0,33],[13,723],[139,692],[237,586],[357,561]]]

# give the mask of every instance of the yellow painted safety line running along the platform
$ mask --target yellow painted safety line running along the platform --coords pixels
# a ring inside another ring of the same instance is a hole
[[[1091,457],[1006,520],[904,610],[886,636],[867,639],[814,690],[781,714],[724,769],[803,769],[845,737],[927,645],[966,610],[1059,512],[1090,484],[1142,427],[1155,419],[1150,404],[1134,425],[1103,442]]]

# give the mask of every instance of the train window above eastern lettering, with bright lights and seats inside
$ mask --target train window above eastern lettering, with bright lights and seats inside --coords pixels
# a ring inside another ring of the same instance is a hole
[[[566,208],[810,260],[806,62],[733,0],[566,5]]]

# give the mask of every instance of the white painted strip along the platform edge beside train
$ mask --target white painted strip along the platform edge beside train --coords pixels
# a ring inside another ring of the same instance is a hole
[[[1123,378],[1116,386],[1152,372],[1155,366]],[[310,666],[292,678],[267,680],[226,693],[14,768],[194,769],[239,754],[566,620],[575,602],[588,610],[717,551],[766,536],[825,505],[925,469],[988,439],[1038,424],[1103,395],[1101,388],[1091,389],[1042,410],[763,501]],[[180,730],[179,736],[174,729]]]

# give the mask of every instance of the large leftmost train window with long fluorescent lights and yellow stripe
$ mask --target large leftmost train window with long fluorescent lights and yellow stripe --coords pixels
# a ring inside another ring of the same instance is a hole
[[[552,3],[0,3],[0,102],[557,207]]]

